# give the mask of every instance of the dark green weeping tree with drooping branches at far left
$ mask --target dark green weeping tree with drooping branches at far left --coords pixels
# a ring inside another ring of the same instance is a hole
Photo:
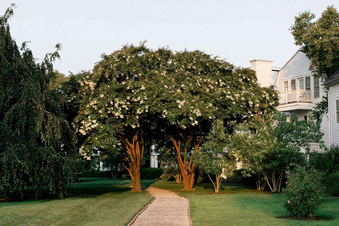
[[[0,197],[24,198],[43,186],[62,198],[74,181],[74,136],[50,82],[58,52],[36,62],[24,43],[19,50],[10,35],[12,7],[0,17]],[[60,45],[57,45],[57,51]]]

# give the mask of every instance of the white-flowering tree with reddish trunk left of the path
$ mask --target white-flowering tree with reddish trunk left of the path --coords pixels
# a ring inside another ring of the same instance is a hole
[[[93,73],[80,81],[77,132],[85,137],[80,148],[89,159],[95,150],[120,153],[124,167],[134,183],[132,191],[141,191],[140,167],[147,141],[156,121],[150,109],[156,100],[152,81],[155,71],[165,65],[169,51],[150,51],[140,46],[124,46],[111,55],[103,55]]]

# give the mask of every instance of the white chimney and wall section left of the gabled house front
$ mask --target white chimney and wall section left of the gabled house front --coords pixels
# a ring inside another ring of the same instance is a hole
[[[256,72],[256,78],[261,86],[271,86],[276,84],[280,67],[272,67],[270,60],[254,59],[251,60],[251,69]]]

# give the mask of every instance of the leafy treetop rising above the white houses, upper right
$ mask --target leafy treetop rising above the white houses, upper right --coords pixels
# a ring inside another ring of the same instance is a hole
[[[300,13],[291,31],[295,44],[311,60],[313,75],[325,80],[339,69],[339,13],[331,5],[316,21],[314,18],[310,11]]]

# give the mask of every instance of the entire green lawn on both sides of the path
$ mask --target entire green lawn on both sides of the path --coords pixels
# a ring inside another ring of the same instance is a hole
[[[132,193],[131,180],[86,178],[69,189],[61,200],[0,202],[0,225],[126,225],[152,199],[146,192]],[[325,197],[318,216],[330,221],[292,221],[282,207],[282,194],[259,193],[239,186],[221,188],[197,184],[193,192],[184,192],[172,181],[141,180],[143,186],[169,189],[190,198],[191,218],[200,225],[339,225],[339,198]]]

